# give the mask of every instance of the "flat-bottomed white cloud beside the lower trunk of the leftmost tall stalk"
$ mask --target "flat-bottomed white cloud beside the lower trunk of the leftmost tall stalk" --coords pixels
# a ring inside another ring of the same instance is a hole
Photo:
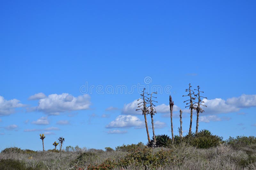
[[[110,122],[106,128],[118,128],[118,127],[140,127],[143,125],[138,117],[132,115],[119,115],[116,119]]]

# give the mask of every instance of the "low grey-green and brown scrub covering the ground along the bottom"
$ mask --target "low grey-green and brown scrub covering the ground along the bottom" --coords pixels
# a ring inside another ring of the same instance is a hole
[[[140,142],[116,150],[106,147],[106,151],[67,146],[61,154],[55,149],[42,152],[11,147],[0,153],[0,169],[256,169],[256,138],[252,136],[223,141],[203,130],[183,138],[175,136],[174,142],[167,135],[157,135],[157,139],[164,143],[148,147]]]

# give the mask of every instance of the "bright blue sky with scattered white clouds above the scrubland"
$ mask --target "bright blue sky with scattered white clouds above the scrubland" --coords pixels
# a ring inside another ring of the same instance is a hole
[[[208,98],[199,130],[224,139],[255,136],[255,5],[2,1],[0,149],[41,150],[40,133],[46,136],[46,149],[54,148],[60,136],[64,147],[146,144],[144,118],[135,112],[143,85],[148,92],[160,88],[156,134],[171,136],[170,93],[174,133],[179,109],[187,133],[190,117],[182,95],[191,83],[192,89],[200,85]]]

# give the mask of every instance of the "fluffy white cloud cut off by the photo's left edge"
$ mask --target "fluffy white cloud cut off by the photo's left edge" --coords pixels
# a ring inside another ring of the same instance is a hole
[[[10,115],[15,112],[15,108],[25,107],[19,100],[5,100],[3,96],[0,96],[0,116]]]

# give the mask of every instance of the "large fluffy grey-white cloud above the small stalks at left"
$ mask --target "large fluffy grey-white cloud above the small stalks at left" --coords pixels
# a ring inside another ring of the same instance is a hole
[[[42,111],[50,115],[58,115],[60,112],[87,110],[90,105],[90,96],[87,94],[74,97],[68,93],[62,93],[61,95],[52,94],[40,99],[38,106],[32,110]]]

